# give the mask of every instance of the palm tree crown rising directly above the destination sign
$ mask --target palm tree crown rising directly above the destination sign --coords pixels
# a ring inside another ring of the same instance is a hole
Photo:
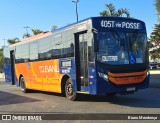
[[[126,16],[126,17],[130,17],[130,13],[128,11],[128,9],[118,9],[116,11],[115,6],[110,3],[110,4],[106,4],[106,10],[103,10],[102,12],[100,12],[100,16]]]

